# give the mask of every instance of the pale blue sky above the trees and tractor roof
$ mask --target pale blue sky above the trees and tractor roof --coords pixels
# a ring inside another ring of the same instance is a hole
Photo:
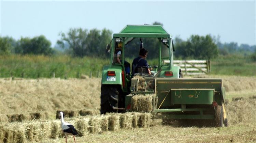
[[[252,1],[12,1],[0,0],[0,34],[15,39],[41,34],[54,46],[69,28],[114,33],[127,24],[163,23],[174,37],[221,36],[220,41],[256,44],[256,0]]]

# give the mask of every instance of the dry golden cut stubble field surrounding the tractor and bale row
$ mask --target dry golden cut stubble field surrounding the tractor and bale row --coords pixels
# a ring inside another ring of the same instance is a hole
[[[223,79],[223,85],[227,89],[228,127],[215,128],[194,124],[185,126],[177,125],[175,122],[171,125],[162,125],[161,119],[154,119],[148,127],[86,132],[76,140],[77,142],[255,142],[256,78],[207,77]],[[47,112],[46,121],[58,123],[58,120],[54,120],[57,110],[100,108],[100,79],[0,79],[0,102],[0,115]],[[74,120],[76,118],[84,117],[74,117]],[[26,124],[28,122],[26,121]],[[1,122],[0,117],[0,126],[12,126],[12,124],[22,125],[23,122]],[[38,142],[65,142],[65,138],[43,138]],[[73,142],[73,139],[68,138],[68,142]]]

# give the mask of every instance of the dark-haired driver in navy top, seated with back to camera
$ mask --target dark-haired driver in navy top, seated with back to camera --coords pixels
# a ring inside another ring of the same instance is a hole
[[[141,66],[145,66],[147,67],[148,70],[148,74],[151,74],[150,70],[149,70],[149,66],[147,64],[147,61],[145,60],[147,57],[147,53],[148,51],[144,48],[140,49],[140,53],[139,53],[139,57],[135,58],[132,62],[132,77],[134,76],[134,73],[136,73],[137,71],[136,68],[137,67],[141,67]]]

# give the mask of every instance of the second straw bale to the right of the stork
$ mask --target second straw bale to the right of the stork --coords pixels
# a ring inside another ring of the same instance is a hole
[[[101,131],[102,116],[91,116],[89,120],[88,130],[91,133],[98,133]]]

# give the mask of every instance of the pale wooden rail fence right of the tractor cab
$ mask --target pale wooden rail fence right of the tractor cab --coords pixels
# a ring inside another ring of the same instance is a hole
[[[169,60],[163,62],[170,63]],[[174,60],[173,65],[180,66],[183,75],[211,74],[210,60]]]

